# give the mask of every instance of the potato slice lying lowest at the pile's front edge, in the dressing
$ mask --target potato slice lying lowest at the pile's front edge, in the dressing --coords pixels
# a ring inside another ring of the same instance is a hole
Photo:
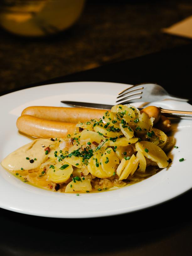
[[[77,192],[86,192],[91,191],[92,186],[89,179],[84,179],[81,181],[73,182],[71,181],[69,184],[67,184],[67,187],[65,189],[66,193],[77,193]]]

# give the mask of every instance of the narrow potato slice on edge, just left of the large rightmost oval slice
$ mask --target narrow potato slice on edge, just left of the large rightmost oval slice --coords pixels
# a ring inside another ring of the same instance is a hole
[[[139,164],[139,158],[135,157],[135,155],[132,155],[129,160],[126,160],[125,168],[122,171],[119,180],[127,179],[127,177],[131,174],[133,175],[136,171]]]

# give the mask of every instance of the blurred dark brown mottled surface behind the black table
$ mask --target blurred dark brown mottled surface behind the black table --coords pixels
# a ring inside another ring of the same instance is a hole
[[[0,29],[0,92],[188,45],[161,29],[191,14],[191,0],[87,0],[77,23],[51,38]]]

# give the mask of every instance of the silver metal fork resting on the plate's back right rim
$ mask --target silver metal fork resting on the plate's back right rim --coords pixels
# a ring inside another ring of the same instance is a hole
[[[163,99],[173,99],[185,102],[189,101],[189,99],[170,95],[162,86],[155,83],[131,85],[129,88],[118,93],[117,99],[118,100],[116,102],[118,104],[128,104],[130,102],[153,102]]]

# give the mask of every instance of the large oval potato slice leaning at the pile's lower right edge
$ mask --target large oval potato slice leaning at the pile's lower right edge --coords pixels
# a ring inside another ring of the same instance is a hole
[[[145,157],[156,162],[160,168],[168,166],[168,158],[165,152],[157,145],[149,141],[140,141],[135,146],[137,151],[140,151]]]

